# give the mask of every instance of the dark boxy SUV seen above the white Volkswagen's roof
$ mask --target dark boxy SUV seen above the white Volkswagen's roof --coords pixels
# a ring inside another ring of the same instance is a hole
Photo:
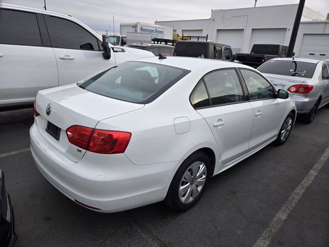
[[[232,60],[230,45],[213,41],[177,41],[174,56]]]

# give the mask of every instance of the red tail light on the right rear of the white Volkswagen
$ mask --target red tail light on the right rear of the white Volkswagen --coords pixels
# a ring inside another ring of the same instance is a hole
[[[123,153],[132,133],[112,130],[92,129],[74,125],[66,130],[68,141],[94,153]]]

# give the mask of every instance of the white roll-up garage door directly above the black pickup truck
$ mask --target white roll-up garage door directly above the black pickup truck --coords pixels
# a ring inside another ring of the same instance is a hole
[[[253,44],[283,45],[286,28],[252,29],[249,52]]]

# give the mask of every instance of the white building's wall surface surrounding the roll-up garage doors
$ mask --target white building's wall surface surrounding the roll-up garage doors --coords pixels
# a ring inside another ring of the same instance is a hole
[[[209,35],[209,40],[216,41],[217,30],[243,29],[241,52],[250,52],[252,29],[285,28],[286,34],[283,45],[288,45],[293,29],[298,4],[242,8],[229,10],[212,10],[210,19],[185,21],[158,21],[158,25],[172,26],[177,33],[182,30],[203,30],[203,36]],[[318,12],[304,7],[303,20],[324,20]],[[326,27],[324,27],[326,26]],[[295,50],[300,49],[303,33],[327,33],[327,24],[301,24]],[[296,52],[297,54],[298,52]]]

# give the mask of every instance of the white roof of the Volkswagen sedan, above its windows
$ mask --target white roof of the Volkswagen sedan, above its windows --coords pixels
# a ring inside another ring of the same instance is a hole
[[[232,68],[232,67],[241,67],[241,68],[248,68],[255,70],[250,66],[240,63],[233,63],[230,61],[214,60],[214,59],[206,59],[206,58],[168,56],[166,59],[159,59],[159,57],[150,57],[150,58],[136,59],[134,61],[163,64],[177,68],[188,69],[191,71],[197,69],[210,71],[214,69]]]

